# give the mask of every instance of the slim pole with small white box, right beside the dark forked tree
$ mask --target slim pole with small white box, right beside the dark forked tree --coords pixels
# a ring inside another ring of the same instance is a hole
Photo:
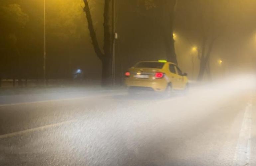
[[[112,85],[115,85],[115,46],[116,46],[116,0],[112,0],[112,38],[113,38],[113,46],[112,46]]]

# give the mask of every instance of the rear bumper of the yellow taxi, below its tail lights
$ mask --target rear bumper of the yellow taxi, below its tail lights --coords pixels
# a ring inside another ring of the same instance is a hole
[[[145,90],[154,90],[157,92],[163,92],[166,90],[167,81],[165,79],[158,79],[155,81],[140,81],[140,80],[125,80],[125,85],[133,89],[145,89]]]

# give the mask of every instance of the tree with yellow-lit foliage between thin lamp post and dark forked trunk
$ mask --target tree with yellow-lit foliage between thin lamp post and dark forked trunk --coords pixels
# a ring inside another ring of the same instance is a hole
[[[74,70],[73,59],[74,50],[77,43],[83,35],[88,33],[86,29],[82,29],[81,23],[85,23],[85,15],[81,10],[81,5],[83,2],[74,0],[55,0],[51,3],[47,9],[49,10],[49,15],[47,17],[47,36],[49,45],[63,44],[66,49],[66,68],[64,69],[69,78],[72,78],[72,71]],[[56,7],[59,5],[59,7]],[[58,41],[61,39],[61,41]],[[58,43],[57,43],[58,41]]]

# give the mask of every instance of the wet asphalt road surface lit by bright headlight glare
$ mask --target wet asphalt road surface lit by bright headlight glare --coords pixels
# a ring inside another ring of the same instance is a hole
[[[256,165],[255,92],[226,81],[170,98],[1,96],[0,165]]]

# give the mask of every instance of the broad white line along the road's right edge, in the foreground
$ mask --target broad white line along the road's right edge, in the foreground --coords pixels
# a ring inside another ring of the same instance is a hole
[[[239,133],[236,153],[233,159],[234,166],[250,165],[251,158],[251,121],[252,121],[252,102],[246,107],[244,118]]]

